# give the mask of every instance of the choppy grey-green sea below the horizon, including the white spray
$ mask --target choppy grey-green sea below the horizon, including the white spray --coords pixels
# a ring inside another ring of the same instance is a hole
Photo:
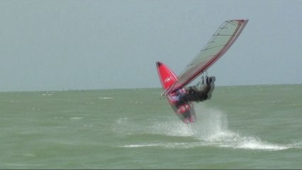
[[[302,84],[216,86],[188,125],[161,92],[1,92],[0,169],[302,169]]]

